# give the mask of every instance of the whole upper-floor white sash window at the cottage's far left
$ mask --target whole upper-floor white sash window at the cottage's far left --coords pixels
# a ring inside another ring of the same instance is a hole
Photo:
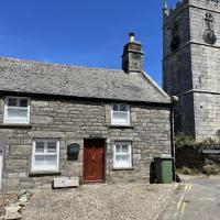
[[[7,97],[4,103],[4,123],[30,123],[30,99]]]

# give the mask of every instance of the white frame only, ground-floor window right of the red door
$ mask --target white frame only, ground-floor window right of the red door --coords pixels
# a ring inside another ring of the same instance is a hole
[[[122,153],[122,152],[118,153],[117,152],[117,145],[118,144],[120,144],[121,146],[122,145],[128,145],[129,146],[129,153]],[[128,154],[130,155],[130,161],[129,161],[129,165],[128,166],[122,166],[122,165],[117,163],[117,161],[116,161],[117,155],[128,155]],[[127,141],[127,142],[116,141],[114,142],[114,146],[113,146],[113,168],[114,169],[132,168],[132,157],[133,157],[133,155],[132,155],[132,143],[131,142],[129,142],[129,141]]]

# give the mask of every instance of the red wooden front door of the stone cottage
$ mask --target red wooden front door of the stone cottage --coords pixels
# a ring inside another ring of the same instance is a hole
[[[84,182],[102,183],[105,180],[105,141],[85,140]]]

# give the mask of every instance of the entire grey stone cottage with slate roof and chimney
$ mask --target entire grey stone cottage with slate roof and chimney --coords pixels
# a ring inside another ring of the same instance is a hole
[[[152,157],[170,153],[173,103],[143,56],[130,34],[123,70],[0,58],[1,187],[147,182]]]

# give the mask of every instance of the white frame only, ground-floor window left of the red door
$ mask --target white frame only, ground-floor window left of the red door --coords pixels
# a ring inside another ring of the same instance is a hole
[[[44,153],[36,153],[36,142],[44,142]],[[56,142],[56,153],[47,153],[47,143]],[[45,147],[46,143],[46,147]],[[56,168],[52,168],[51,166],[44,166],[42,168],[35,166],[35,155],[56,155]],[[34,139],[33,140],[33,148],[32,148],[32,163],[31,163],[31,172],[59,172],[59,140],[58,139]]]

